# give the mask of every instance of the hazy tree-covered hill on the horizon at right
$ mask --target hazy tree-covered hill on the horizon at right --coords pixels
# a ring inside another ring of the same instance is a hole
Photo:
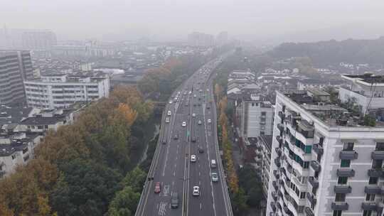
[[[309,57],[319,65],[341,62],[384,65],[384,36],[375,40],[282,43],[267,54],[274,58]]]

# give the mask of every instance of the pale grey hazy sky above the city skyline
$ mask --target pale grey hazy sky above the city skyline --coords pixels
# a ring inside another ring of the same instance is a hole
[[[383,11],[383,0],[0,0],[0,25],[49,28],[59,39],[172,40],[191,31],[265,39],[338,26],[380,34]]]

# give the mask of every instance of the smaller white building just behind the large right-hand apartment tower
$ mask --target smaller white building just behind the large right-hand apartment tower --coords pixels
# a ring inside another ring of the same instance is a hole
[[[271,102],[263,101],[260,95],[252,94],[242,99],[241,106],[242,137],[272,135],[274,112]]]

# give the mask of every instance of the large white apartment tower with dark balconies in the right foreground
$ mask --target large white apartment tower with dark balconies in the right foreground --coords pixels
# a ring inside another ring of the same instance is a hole
[[[338,102],[320,90],[277,92],[268,216],[383,214],[383,112],[366,121]]]

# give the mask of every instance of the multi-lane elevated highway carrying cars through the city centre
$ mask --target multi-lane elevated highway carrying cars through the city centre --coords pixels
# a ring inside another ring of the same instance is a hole
[[[167,104],[137,216],[233,215],[216,136],[211,72],[220,61],[203,65]],[[192,155],[196,162],[191,161]],[[216,167],[211,166],[212,160]],[[212,180],[211,173],[218,173],[218,181]],[[156,183],[161,185],[160,193],[154,193]],[[200,195],[193,195],[194,186]],[[178,194],[177,208],[171,207],[174,193]]]

